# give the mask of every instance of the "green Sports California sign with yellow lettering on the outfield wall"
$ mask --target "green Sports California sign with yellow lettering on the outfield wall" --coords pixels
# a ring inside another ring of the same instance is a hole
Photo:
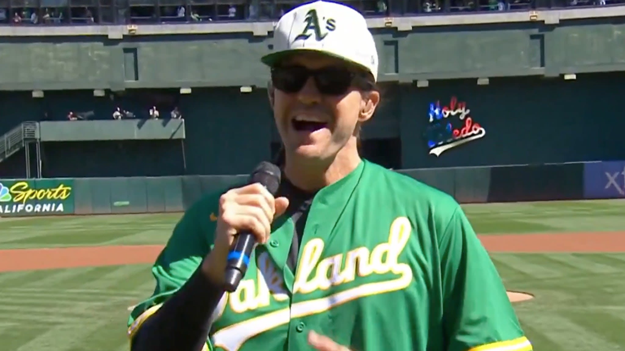
[[[74,213],[73,179],[0,180],[0,217]]]

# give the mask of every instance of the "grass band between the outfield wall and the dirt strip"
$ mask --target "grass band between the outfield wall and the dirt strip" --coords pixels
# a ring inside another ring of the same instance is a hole
[[[625,201],[464,205],[479,234],[622,230]],[[0,220],[0,249],[164,244],[182,214]]]

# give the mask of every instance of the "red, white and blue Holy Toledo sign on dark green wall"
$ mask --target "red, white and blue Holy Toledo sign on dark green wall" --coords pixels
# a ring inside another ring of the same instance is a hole
[[[480,139],[486,130],[473,121],[466,102],[452,96],[449,106],[432,102],[429,106],[429,125],[426,139],[429,154],[440,156],[443,152],[467,142]]]

